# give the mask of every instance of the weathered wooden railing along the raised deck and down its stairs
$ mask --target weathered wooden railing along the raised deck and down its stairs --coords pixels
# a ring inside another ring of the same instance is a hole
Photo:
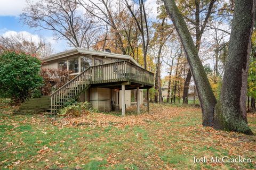
[[[51,113],[57,113],[70,99],[77,99],[90,84],[129,81],[154,86],[154,73],[128,61],[91,66],[51,96]]]

